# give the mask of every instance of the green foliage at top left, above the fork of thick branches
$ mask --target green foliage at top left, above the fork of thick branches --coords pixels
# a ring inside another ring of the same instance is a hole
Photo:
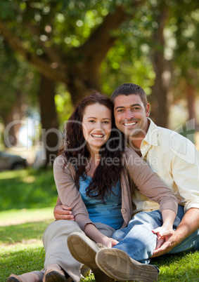
[[[101,24],[108,11],[115,6],[114,1],[4,1],[0,18],[10,20],[15,32],[23,38],[25,46],[37,55],[42,55],[46,46],[57,46],[68,51],[77,48],[89,37],[91,31]],[[10,11],[10,13],[8,13]],[[26,24],[39,29],[38,36],[26,29]],[[23,23],[23,25],[22,25]]]

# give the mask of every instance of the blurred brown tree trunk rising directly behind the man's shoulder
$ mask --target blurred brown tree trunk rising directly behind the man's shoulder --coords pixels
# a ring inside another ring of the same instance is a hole
[[[167,9],[161,8],[158,16],[158,28],[154,32],[153,48],[153,68],[155,71],[155,83],[152,87],[152,95],[149,102],[152,104],[151,116],[158,126],[168,126],[169,115],[169,86],[171,81],[171,72],[167,69],[167,61],[164,57],[165,39],[164,28],[167,20]]]

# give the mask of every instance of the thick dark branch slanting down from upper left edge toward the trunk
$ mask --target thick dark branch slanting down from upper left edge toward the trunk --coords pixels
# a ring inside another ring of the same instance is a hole
[[[39,58],[39,56],[28,52],[23,47],[23,43],[20,41],[20,39],[18,39],[18,37],[15,36],[15,34],[13,34],[13,32],[11,32],[11,30],[8,29],[8,27],[6,27],[6,25],[1,20],[0,31],[13,51],[18,52],[23,57],[23,59],[27,60],[27,62],[32,63],[32,65],[34,65],[34,67],[36,67],[37,70],[41,72],[41,74],[44,74],[44,76],[48,77],[49,79],[53,79],[53,81],[67,83],[68,79],[65,72],[53,68],[53,65],[51,65],[49,62],[46,62],[45,60]]]

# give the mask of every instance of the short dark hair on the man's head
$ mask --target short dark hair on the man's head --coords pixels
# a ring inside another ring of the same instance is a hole
[[[139,85],[136,85],[134,83],[124,83],[122,85],[120,85],[119,87],[117,87],[115,89],[115,91],[113,92],[113,94],[111,95],[111,101],[115,102],[115,98],[119,95],[131,95],[131,94],[135,94],[135,95],[139,95],[141,98],[141,101],[143,102],[144,107],[146,107],[146,104],[148,103],[147,98],[146,98],[146,93],[143,90],[143,88],[141,88]]]

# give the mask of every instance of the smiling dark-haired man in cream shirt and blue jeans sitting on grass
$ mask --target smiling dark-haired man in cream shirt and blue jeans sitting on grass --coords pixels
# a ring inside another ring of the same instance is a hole
[[[148,118],[150,106],[140,86],[122,84],[113,92],[112,102],[115,124],[126,135],[129,147],[143,157],[179,200],[173,230],[157,234],[157,241],[153,229],[162,224],[159,206],[134,189],[132,201],[136,212],[141,213],[128,227],[115,231],[113,239],[120,243],[96,255],[96,264],[105,274],[126,281],[133,274],[138,278],[143,275],[144,268],[136,261],[148,264],[151,256],[199,248],[199,154],[191,141]]]

